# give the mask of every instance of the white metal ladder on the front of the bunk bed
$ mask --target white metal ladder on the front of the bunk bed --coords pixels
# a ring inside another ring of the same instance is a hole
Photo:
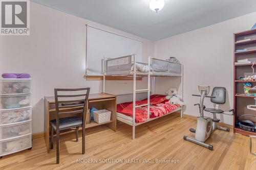
[[[147,75],[147,89],[136,89],[136,57],[134,56],[134,67],[133,67],[133,139],[135,139],[135,110],[137,107],[147,106],[147,119],[150,119],[150,69],[151,69],[151,57],[148,57],[148,75]],[[136,106],[136,92],[147,91],[147,104]]]

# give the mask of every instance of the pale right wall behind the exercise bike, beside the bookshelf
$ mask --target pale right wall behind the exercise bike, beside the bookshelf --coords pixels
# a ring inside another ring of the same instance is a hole
[[[198,85],[226,87],[226,104],[221,108],[233,107],[233,33],[249,30],[255,18],[256,12],[155,42],[155,57],[173,56],[184,64],[185,114],[199,115],[198,107],[193,105],[199,98],[191,96],[198,93]],[[157,85],[158,93],[167,87],[179,86],[175,81]],[[209,99],[205,99],[205,105],[213,107]],[[232,125],[233,116],[221,116],[221,121]]]

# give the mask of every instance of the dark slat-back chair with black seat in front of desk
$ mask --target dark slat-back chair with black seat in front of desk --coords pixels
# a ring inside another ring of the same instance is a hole
[[[63,93],[58,94],[59,93]],[[79,94],[67,94],[67,93]],[[64,94],[66,93],[66,94]],[[56,132],[56,163],[59,163],[59,131],[76,128],[76,141],[78,141],[78,129],[82,127],[82,154],[86,153],[85,147],[85,125],[87,101],[90,88],[62,89],[55,88],[55,108],[56,119],[51,120],[51,149],[53,149],[53,132]],[[59,100],[60,98],[60,100]],[[79,98],[79,99],[78,99]],[[59,118],[61,114],[70,115],[69,117]],[[79,116],[79,114],[81,114]]]

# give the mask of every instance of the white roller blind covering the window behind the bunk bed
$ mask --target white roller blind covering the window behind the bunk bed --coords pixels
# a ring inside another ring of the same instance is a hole
[[[87,26],[87,75],[102,75],[102,59],[136,54],[142,61],[142,42]]]

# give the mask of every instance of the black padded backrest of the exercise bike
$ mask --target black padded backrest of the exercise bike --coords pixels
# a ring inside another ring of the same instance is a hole
[[[215,98],[211,98],[210,101],[215,104],[224,104],[226,103],[226,88],[225,87],[214,87],[212,89],[211,96]]]

